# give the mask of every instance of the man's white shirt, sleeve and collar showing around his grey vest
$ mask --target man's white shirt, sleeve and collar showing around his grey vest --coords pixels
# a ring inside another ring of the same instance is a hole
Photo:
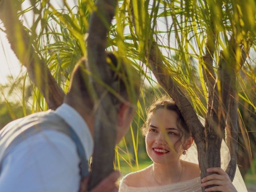
[[[55,113],[74,129],[88,159],[93,140],[86,122],[67,104],[62,104]],[[0,192],[77,192],[79,163],[76,144],[69,136],[43,130],[26,138],[4,158]]]

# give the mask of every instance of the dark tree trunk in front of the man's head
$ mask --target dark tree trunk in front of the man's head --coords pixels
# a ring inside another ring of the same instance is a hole
[[[90,79],[93,85],[92,100],[98,108],[94,119],[94,153],[89,190],[113,170],[118,107],[114,104],[113,95],[108,94],[107,88],[101,82],[113,86],[105,49],[116,5],[116,0],[99,0],[96,4],[97,11],[90,17],[87,55],[89,68],[94,77]]]

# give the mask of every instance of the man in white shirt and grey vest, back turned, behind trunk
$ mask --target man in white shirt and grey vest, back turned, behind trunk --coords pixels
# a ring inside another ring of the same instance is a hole
[[[117,59],[107,54],[112,64]],[[85,61],[80,61],[72,74],[64,104],[47,112],[39,112],[10,122],[0,131],[0,191],[2,192],[77,192],[87,189],[87,161],[93,152],[94,105],[85,83]],[[131,68],[138,96],[140,76]],[[128,130],[135,109],[130,102],[125,75],[119,82],[117,138]],[[137,83],[137,84],[136,84]],[[134,101],[134,99],[133,99]],[[82,166],[81,166],[82,165]],[[82,179],[82,176],[86,176]],[[91,192],[118,191],[119,173],[110,173]]]

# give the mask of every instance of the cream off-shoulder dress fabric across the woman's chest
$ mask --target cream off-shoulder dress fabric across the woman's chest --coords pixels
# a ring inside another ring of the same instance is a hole
[[[131,187],[120,181],[119,192],[202,192],[200,177],[160,186]]]

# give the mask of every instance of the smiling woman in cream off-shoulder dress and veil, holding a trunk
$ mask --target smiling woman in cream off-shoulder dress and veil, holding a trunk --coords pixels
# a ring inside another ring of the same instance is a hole
[[[120,182],[119,192],[201,192],[208,185],[217,186],[207,188],[207,192],[237,192],[222,168],[209,168],[208,172],[218,174],[201,181],[198,163],[186,160],[194,139],[173,100],[162,98],[152,104],[142,133],[153,164],[126,175]],[[240,182],[239,192],[247,191],[243,180]]]

